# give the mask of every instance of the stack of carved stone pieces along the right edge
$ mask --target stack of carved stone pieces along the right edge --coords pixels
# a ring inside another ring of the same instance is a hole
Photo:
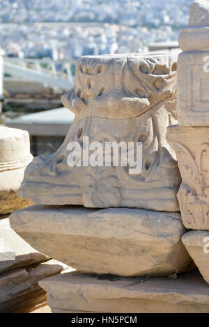
[[[167,141],[176,151],[182,183],[178,201],[190,232],[182,241],[209,283],[209,1],[194,1],[178,38],[178,125]]]

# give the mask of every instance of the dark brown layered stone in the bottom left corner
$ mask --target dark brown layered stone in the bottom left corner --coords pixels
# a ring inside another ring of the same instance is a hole
[[[46,294],[38,286],[39,280],[53,276],[63,270],[56,260],[27,266],[0,275],[0,312],[24,312],[33,310],[37,304],[46,301]]]

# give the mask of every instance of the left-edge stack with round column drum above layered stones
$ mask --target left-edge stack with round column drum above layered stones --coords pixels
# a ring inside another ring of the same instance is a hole
[[[0,127],[0,312],[28,312],[46,303],[38,286],[64,265],[38,253],[10,228],[8,214],[33,202],[17,196],[30,154],[29,134]]]

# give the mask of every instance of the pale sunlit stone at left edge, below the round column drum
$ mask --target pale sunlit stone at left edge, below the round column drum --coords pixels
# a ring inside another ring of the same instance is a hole
[[[48,259],[10,228],[9,218],[0,218],[0,273]]]

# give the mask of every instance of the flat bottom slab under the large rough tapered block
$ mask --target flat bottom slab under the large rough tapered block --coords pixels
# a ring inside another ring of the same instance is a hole
[[[39,285],[47,291],[52,312],[209,312],[209,287],[199,273],[178,279],[104,279],[63,273]]]

